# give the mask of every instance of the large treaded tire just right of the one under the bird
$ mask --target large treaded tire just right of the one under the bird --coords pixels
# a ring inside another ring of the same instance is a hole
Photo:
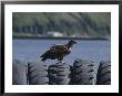
[[[94,85],[96,75],[92,61],[78,58],[72,67],[72,85]]]

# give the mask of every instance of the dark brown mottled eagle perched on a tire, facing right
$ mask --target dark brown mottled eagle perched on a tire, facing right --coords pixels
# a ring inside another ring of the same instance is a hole
[[[61,45],[61,44],[53,44],[50,50],[48,50],[45,53],[43,53],[40,57],[42,57],[41,61],[45,61],[47,58],[62,61],[63,57],[71,53],[71,47],[73,44],[77,44],[75,41],[71,40],[68,44]]]

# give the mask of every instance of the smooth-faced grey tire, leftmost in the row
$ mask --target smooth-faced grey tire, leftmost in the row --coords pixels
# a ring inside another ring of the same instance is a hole
[[[27,67],[26,62],[20,60],[12,61],[12,84],[27,85]]]

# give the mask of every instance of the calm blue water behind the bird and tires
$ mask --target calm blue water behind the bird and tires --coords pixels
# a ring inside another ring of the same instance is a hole
[[[12,56],[24,61],[35,61],[49,50],[52,44],[65,44],[68,40],[13,40]],[[71,54],[64,57],[64,62],[73,64],[75,58],[90,60],[98,66],[100,61],[111,61],[111,42],[101,40],[77,40]],[[48,64],[57,60],[48,60]]]

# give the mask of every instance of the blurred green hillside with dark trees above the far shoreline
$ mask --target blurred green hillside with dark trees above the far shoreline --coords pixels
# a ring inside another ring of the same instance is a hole
[[[48,32],[60,32],[64,36],[108,38],[111,35],[111,13],[13,12],[12,31],[13,36],[47,36]]]

